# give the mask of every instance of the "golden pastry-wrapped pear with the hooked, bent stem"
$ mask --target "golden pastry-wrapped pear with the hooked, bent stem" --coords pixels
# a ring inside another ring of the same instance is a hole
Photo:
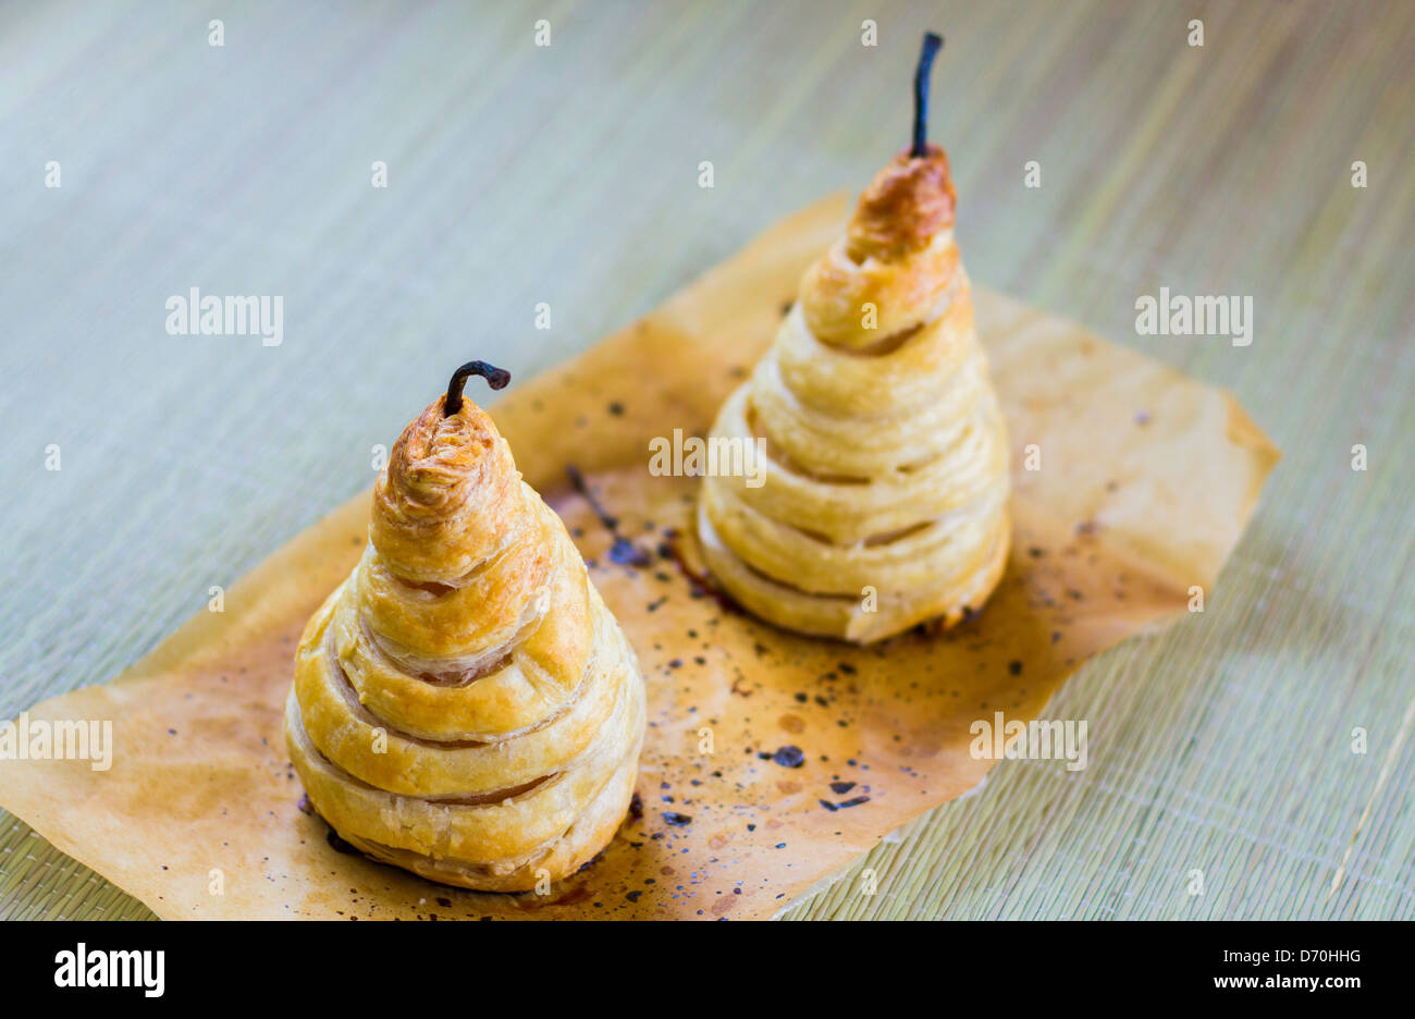
[[[310,618],[290,759],[357,849],[519,892],[573,873],[634,793],[644,681],[560,518],[458,369],[393,446],[369,541]]]

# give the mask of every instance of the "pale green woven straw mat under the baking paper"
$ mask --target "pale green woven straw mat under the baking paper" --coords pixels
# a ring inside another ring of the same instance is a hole
[[[1054,701],[1088,768],[1007,761],[787,916],[1415,916],[1409,4],[269,3],[211,47],[214,16],[0,10],[0,716],[365,487],[464,351],[556,364],[862,187],[932,27],[972,276],[1232,389],[1285,459],[1207,610]],[[190,286],[283,294],[284,342],[167,335]],[[1252,345],[1135,335],[1160,286],[1252,296]],[[0,815],[0,916],[150,914]]]

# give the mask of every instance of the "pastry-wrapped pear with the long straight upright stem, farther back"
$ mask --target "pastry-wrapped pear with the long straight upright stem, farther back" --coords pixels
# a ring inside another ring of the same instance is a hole
[[[927,88],[927,62],[921,76]],[[923,108],[914,147],[807,270],[712,427],[712,440],[764,440],[766,463],[705,478],[703,559],[741,606],[805,634],[869,643],[951,626],[1007,560],[1007,432]]]

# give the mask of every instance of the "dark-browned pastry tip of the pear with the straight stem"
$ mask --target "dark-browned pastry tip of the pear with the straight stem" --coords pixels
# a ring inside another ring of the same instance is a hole
[[[846,252],[856,263],[869,256],[893,260],[927,248],[954,225],[954,181],[948,156],[928,144],[924,156],[900,150],[865,188],[846,231]]]

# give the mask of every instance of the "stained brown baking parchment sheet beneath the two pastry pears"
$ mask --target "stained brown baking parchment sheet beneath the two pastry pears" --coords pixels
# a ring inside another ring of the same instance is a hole
[[[679,563],[696,483],[651,476],[648,442],[706,433],[848,208],[838,195],[782,221],[494,408],[648,684],[641,810],[548,899],[368,862],[300,810],[282,705],[306,620],[364,548],[366,494],[232,587],[224,614],[201,613],[108,686],[33,708],[112,719],[112,768],[4,760],[0,804],[164,917],[760,919],[966,793],[993,764],[969,754],[969,725],[1037,718],[1090,655],[1183,613],[1278,453],[1227,393],[975,290],[1015,447],[1013,556],[982,613],[856,648],[720,604]],[[1041,470],[1027,471],[1033,444]],[[634,565],[610,555],[570,464],[644,553]]]

